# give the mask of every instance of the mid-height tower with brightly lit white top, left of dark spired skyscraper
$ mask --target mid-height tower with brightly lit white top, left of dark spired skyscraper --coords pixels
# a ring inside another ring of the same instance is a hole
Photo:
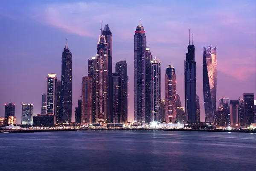
[[[56,115],[57,103],[57,77],[56,74],[48,74],[47,77],[47,114]]]

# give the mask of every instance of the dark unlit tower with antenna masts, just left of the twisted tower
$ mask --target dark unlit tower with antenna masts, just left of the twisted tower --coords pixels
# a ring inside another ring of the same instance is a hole
[[[185,61],[185,113],[188,123],[198,122],[196,116],[196,62],[195,62],[195,46],[190,45],[189,34],[189,46],[186,53]]]

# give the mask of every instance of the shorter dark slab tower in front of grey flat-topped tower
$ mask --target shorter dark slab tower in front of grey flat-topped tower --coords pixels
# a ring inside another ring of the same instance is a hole
[[[121,75],[117,72],[112,74],[112,123],[121,122]]]

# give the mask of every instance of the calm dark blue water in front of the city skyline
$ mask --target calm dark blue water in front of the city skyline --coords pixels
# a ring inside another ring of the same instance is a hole
[[[0,171],[255,171],[256,133],[0,133]]]

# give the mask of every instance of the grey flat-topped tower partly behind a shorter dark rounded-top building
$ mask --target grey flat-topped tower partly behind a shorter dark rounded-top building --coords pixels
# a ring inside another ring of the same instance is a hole
[[[128,75],[126,61],[116,62],[116,72],[121,75],[121,122],[128,121]]]

